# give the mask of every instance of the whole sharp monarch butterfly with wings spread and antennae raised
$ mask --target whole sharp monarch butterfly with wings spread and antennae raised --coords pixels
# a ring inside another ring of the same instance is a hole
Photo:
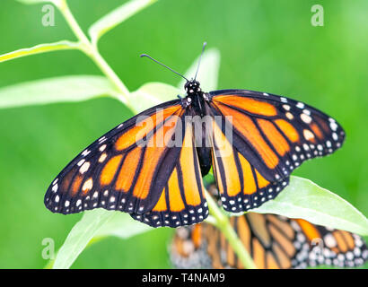
[[[102,207],[153,227],[190,225],[208,215],[202,177],[211,168],[223,208],[238,213],[275,198],[302,161],[344,142],[333,118],[302,102],[258,91],[204,92],[197,73],[185,79],[185,98],[143,111],[78,154],[48,187],[47,208]]]

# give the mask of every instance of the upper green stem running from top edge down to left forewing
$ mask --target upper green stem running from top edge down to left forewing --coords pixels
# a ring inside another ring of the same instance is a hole
[[[101,57],[101,54],[99,53],[97,47],[93,46],[91,41],[84,34],[78,22],[76,22],[73,13],[71,13],[66,3],[66,0],[60,0],[57,3],[57,8],[65,17],[66,22],[73,30],[75,37],[79,39],[79,41],[81,42],[82,44],[81,49],[83,50],[83,52],[88,57],[92,58],[92,61],[101,69],[101,72],[105,74],[110,79],[110,82],[113,83],[114,86],[118,89],[119,93],[122,96],[118,100],[123,101],[124,104],[126,104],[129,109],[135,111],[135,109],[133,109],[133,107],[131,107],[131,105],[129,104],[128,100],[129,91],[127,90],[127,87],[119,79],[118,75],[114,72],[114,70],[111,69],[110,65],[105,61],[105,59]]]

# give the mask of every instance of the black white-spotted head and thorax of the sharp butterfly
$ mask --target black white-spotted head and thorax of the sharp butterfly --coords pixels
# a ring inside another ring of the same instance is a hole
[[[194,109],[196,115],[200,117],[205,117],[205,99],[204,92],[200,88],[200,83],[196,80],[188,81],[184,86],[185,91],[187,91],[187,97],[185,100],[188,105]]]

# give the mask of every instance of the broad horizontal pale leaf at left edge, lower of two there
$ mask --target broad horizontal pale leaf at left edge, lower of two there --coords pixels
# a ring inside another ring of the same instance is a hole
[[[106,95],[118,98],[118,92],[103,76],[61,76],[0,88],[0,109],[89,100]]]

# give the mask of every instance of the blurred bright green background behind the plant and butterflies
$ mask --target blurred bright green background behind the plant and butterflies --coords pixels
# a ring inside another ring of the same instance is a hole
[[[83,30],[125,1],[69,0]],[[219,88],[269,91],[322,109],[346,129],[336,154],[294,172],[343,196],[368,214],[368,2],[318,1],[325,25],[311,25],[315,0],[162,0],[101,39],[101,54],[130,91],[147,82],[180,79],[138,55],[149,53],[184,72],[204,40],[218,48]],[[42,4],[3,0],[0,54],[74,39],[62,16],[41,23]],[[101,74],[78,51],[23,57],[0,64],[0,87],[66,74]],[[200,79],[199,79],[200,80]],[[172,95],[175,98],[176,95]],[[52,97],[52,95],[50,95]],[[74,155],[132,114],[116,100],[0,109],[0,267],[42,268],[42,239],[59,248],[81,214],[50,213],[43,196]],[[169,268],[172,230],[105,239],[86,249],[75,268]]]

